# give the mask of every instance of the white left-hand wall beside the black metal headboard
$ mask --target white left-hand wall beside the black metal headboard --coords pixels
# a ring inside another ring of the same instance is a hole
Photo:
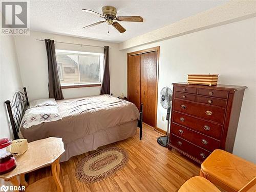
[[[12,101],[14,93],[22,90],[22,81],[13,36],[0,36],[0,41],[0,138],[13,138],[4,102]]]

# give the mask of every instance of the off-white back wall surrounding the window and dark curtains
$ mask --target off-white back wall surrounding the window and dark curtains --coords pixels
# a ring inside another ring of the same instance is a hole
[[[20,73],[23,85],[27,87],[29,100],[49,97],[46,46],[44,41],[36,41],[36,39],[53,39],[61,42],[97,46],[109,45],[111,47],[109,50],[111,93],[115,96],[119,96],[122,93],[126,94],[126,82],[122,75],[125,74],[126,66],[120,65],[120,61],[123,61],[125,58],[125,53],[118,50],[118,44],[31,31],[30,36],[15,37]],[[80,45],[63,43],[55,43],[55,49],[103,53],[103,48],[81,47]],[[62,89],[62,92],[65,99],[77,98],[97,95],[100,92],[100,87]]]

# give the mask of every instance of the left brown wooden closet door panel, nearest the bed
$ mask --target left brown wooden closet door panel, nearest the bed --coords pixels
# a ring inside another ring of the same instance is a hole
[[[140,110],[140,54],[128,57],[128,100]]]

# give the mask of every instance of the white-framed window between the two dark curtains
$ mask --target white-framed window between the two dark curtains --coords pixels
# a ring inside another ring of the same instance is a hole
[[[103,54],[56,50],[62,87],[99,86],[103,75]]]

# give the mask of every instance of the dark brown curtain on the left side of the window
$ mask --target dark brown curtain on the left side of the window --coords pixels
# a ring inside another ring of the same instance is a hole
[[[55,100],[62,100],[63,94],[59,82],[54,40],[45,39],[45,42],[48,59],[49,98],[55,98]]]

